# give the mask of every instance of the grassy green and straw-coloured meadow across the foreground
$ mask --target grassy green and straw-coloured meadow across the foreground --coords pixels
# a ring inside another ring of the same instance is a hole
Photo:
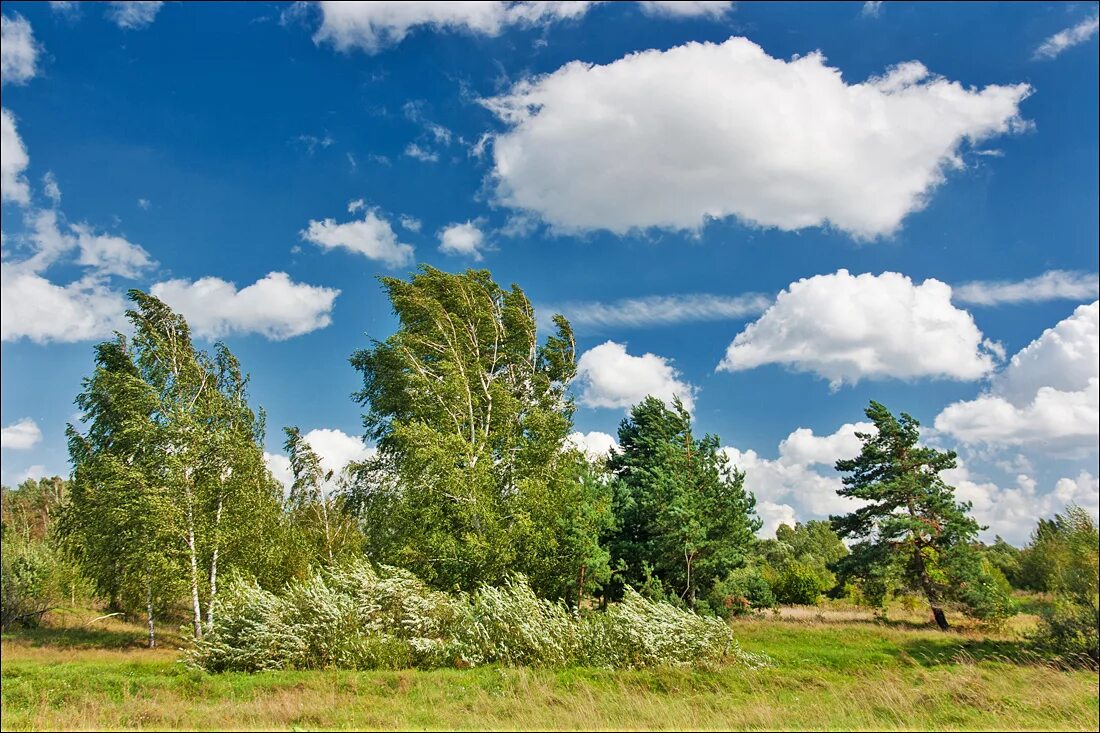
[[[85,614],[91,619],[91,614]],[[1030,659],[1019,631],[789,609],[735,622],[774,667],[211,676],[140,626],[77,617],[2,639],[2,727],[1097,730],[1094,672]],[[177,647],[179,637],[167,639]]]

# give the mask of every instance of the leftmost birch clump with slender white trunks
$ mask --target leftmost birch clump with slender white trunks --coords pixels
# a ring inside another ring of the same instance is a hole
[[[193,626],[210,623],[219,570],[278,568],[280,501],[260,446],[263,416],[223,344],[191,343],[187,322],[131,291],[133,340],[96,347],[68,427],[72,501],[59,535],[98,591],[152,617],[190,590]],[[152,631],[151,631],[152,642]]]

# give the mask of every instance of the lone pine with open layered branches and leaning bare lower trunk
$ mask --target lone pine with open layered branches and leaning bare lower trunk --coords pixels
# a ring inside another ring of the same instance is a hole
[[[895,418],[877,402],[865,412],[876,430],[857,433],[860,455],[836,462],[847,473],[838,493],[865,502],[831,517],[842,538],[856,540],[838,565],[842,573],[881,581],[892,572],[903,588],[924,594],[944,630],[949,601],[977,614],[1007,612],[1004,593],[972,547],[980,527],[970,505],[956,502],[939,475],[955,468],[955,452],[920,445],[920,423],[910,415]]]

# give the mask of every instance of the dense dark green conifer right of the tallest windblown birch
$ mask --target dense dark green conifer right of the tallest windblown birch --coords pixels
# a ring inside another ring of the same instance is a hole
[[[732,467],[717,436],[695,438],[680,400],[646,397],[618,431],[608,460],[615,475],[610,536],[620,579],[659,581],[695,608],[698,592],[745,564],[760,528],[745,474]]]

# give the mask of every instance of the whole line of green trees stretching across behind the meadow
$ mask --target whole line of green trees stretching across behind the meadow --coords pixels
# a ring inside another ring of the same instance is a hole
[[[823,593],[881,605],[899,592],[922,595],[942,628],[948,609],[1013,612],[1020,557],[977,541],[969,504],[941,475],[955,453],[921,444],[911,416],[867,408],[875,430],[836,463],[858,508],[760,540],[745,473],[717,436],[695,434],[679,401],[635,405],[605,457],[570,442],[576,353],[564,317],[540,341],[526,294],[484,270],[422,266],[381,283],[398,327],[350,360],[376,451],[334,477],[289,426],[288,491],[265,467],[264,413],[226,344],[200,350],[182,316],[131,291],[132,335],[95,347],[76,398],[81,424],[67,430],[72,474],[40,534],[111,608],[140,610],[151,645],[180,601],[201,638],[227,576],[277,589],[361,559],[444,591],[521,575],[538,595],[584,609],[635,589],[702,614]],[[30,526],[8,514],[22,491],[6,489],[6,546],[11,527]],[[1082,516],[1091,523],[1076,510],[1052,522]],[[1063,532],[1055,525],[1041,525],[1032,547]],[[1096,543],[1074,547],[1094,569]],[[1094,582],[1074,603],[1094,616]]]

